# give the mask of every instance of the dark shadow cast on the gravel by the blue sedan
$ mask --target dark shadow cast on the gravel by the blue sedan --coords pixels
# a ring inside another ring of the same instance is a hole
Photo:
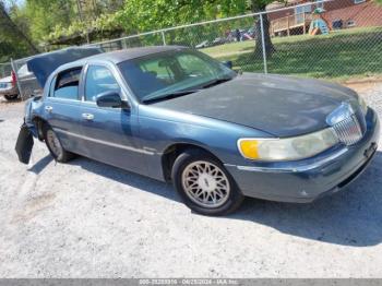
[[[39,172],[46,156],[29,170]],[[69,163],[111,180],[179,202],[170,184],[103,163],[77,157]],[[244,219],[291,236],[327,243],[368,247],[382,241],[382,152],[378,151],[365,174],[346,190],[310,204],[247,199],[235,213],[215,219]]]

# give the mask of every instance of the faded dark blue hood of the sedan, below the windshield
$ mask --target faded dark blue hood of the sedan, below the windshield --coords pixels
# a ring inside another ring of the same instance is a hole
[[[224,84],[155,106],[287,138],[327,127],[326,117],[357,94],[318,80],[244,73]]]

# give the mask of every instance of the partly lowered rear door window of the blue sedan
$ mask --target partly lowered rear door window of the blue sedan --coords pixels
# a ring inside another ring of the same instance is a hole
[[[71,69],[58,74],[52,97],[64,99],[79,99],[80,69]]]

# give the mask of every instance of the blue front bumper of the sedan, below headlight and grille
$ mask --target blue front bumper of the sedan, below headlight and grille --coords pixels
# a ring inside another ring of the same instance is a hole
[[[377,153],[380,122],[369,109],[363,139],[353,146],[337,146],[314,158],[295,163],[225,164],[241,192],[247,196],[279,202],[312,202],[337,192],[358,176]]]

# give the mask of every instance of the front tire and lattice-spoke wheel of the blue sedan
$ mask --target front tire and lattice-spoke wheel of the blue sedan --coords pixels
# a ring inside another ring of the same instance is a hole
[[[179,155],[171,177],[184,204],[203,215],[229,214],[244,199],[222,163],[201,150],[188,150]]]

